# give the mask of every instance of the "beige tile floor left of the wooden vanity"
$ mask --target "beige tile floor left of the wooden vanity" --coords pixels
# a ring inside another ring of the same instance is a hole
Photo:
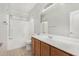
[[[9,51],[0,50],[0,56],[31,56],[31,50],[26,50],[23,48],[18,48]]]

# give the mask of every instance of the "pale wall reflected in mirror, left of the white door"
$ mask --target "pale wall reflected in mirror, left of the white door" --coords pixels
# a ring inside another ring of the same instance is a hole
[[[79,10],[78,3],[56,4],[44,12],[44,18],[48,21],[48,31],[51,34],[69,36],[70,12]]]

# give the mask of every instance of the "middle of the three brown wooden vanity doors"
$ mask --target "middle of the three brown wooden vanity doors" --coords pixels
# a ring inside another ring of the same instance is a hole
[[[41,42],[41,56],[50,55],[50,46],[46,43]]]

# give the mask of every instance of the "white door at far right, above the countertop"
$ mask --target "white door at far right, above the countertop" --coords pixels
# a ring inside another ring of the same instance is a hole
[[[70,36],[79,37],[79,11],[70,14]]]

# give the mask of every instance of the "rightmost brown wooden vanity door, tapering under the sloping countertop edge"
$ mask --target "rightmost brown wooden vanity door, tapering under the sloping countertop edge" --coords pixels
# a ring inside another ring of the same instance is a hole
[[[65,53],[55,47],[51,47],[51,56],[70,56],[70,54]]]

